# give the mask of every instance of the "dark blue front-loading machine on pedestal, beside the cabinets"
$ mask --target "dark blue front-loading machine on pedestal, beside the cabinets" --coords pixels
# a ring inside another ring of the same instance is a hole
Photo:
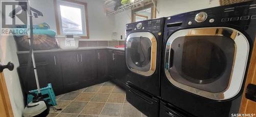
[[[164,18],[126,24],[125,57],[130,72],[126,100],[147,116],[158,116]]]

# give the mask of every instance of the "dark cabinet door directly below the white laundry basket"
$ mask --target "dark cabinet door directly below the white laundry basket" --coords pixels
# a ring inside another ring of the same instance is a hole
[[[59,60],[61,62],[63,86],[65,91],[73,91],[79,86],[80,63],[79,55],[75,51],[60,52]]]

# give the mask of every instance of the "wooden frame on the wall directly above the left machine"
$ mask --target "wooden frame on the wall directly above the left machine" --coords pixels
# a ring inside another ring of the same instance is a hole
[[[131,14],[132,14],[131,22],[135,22],[135,12],[143,10],[143,9],[147,9],[147,8],[151,8],[151,19],[156,18],[156,8],[154,7],[153,3],[150,3],[150,4],[146,4],[144,6],[140,6],[138,8],[132,9],[131,10]]]

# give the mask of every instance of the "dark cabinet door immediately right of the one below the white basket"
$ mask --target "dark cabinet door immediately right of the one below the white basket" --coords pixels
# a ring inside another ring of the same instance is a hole
[[[80,53],[82,86],[87,86],[91,81],[97,80],[97,59],[95,50],[82,51]]]

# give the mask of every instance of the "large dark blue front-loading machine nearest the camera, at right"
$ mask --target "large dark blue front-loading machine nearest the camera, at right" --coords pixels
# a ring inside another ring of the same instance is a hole
[[[167,17],[160,116],[239,113],[255,25],[255,1]]]

